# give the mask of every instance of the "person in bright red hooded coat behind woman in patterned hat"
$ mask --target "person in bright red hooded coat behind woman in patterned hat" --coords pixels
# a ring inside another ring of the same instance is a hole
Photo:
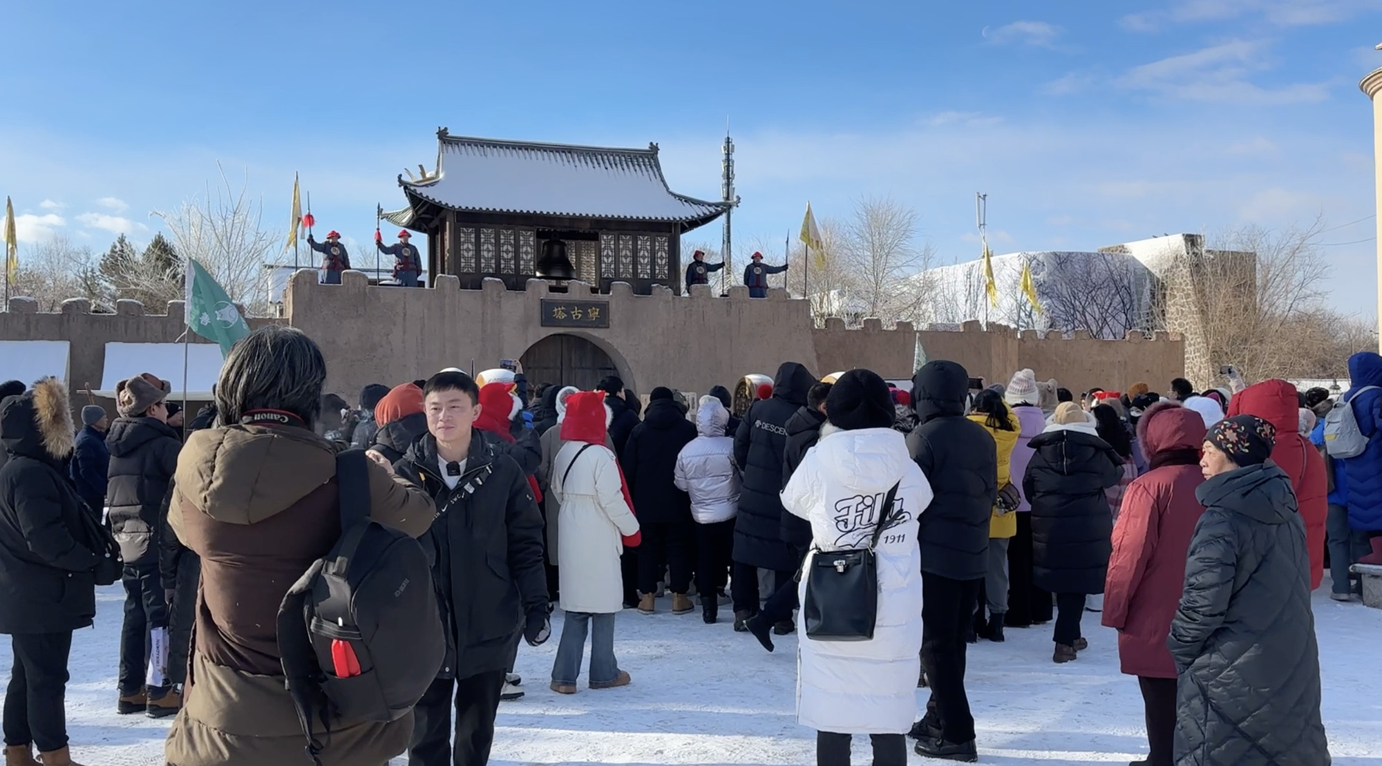
[[[1305,545],[1310,550],[1310,590],[1324,579],[1324,520],[1329,514],[1329,483],[1324,458],[1300,436],[1300,397],[1285,380],[1263,380],[1248,386],[1229,402],[1229,418],[1256,415],[1277,427],[1271,462],[1291,477],[1296,507],[1305,521]]]

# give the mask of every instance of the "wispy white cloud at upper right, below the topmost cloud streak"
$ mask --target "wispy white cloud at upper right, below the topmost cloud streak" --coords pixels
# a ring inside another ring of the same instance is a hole
[[[1328,83],[1294,83],[1265,88],[1249,76],[1271,69],[1265,40],[1229,40],[1194,53],[1133,66],[1118,84],[1180,101],[1213,104],[1302,104],[1324,101]]]

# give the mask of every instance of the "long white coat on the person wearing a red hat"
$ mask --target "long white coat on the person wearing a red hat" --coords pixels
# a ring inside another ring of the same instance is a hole
[[[582,441],[568,441],[551,462],[551,494],[561,507],[557,525],[561,608],[612,614],[623,608],[621,535],[637,532],[638,520],[623,499],[614,452],[591,445],[576,459],[582,447],[586,447]]]

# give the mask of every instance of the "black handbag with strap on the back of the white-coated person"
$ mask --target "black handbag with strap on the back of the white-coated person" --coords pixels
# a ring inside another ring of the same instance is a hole
[[[878,622],[878,556],[873,549],[893,521],[897,489],[887,491],[868,548],[820,550],[806,572],[806,637],[815,642],[867,642]]]

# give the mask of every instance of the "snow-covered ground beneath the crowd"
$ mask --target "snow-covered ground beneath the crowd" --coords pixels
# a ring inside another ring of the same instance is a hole
[[[1324,723],[1336,766],[1382,765],[1382,611],[1338,604],[1316,592],[1324,673]],[[79,630],[68,686],[73,756],[100,766],[163,763],[167,722],[115,713],[120,630],[119,586],[97,595],[95,628]],[[658,607],[666,610],[668,599]],[[721,614],[724,610],[721,610]],[[699,611],[619,615],[625,689],[561,697],[547,689],[553,640],[522,647],[518,672],[528,695],[499,711],[492,763],[814,763],[814,734],[796,725],[796,636],[764,653],[728,624],[705,625]],[[1118,673],[1114,632],[1086,613],[1089,650],[1067,665],[1050,661],[1050,628],[1009,630],[969,653],[969,694],[984,763],[1126,763],[1146,752],[1137,683]],[[8,680],[10,644],[0,646]],[[3,687],[0,687],[3,689]],[[918,704],[926,690],[918,690]],[[395,763],[402,763],[402,759]],[[855,737],[854,762],[868,763],[868,738]],[[916,755],[914,763],[927,762]]]

